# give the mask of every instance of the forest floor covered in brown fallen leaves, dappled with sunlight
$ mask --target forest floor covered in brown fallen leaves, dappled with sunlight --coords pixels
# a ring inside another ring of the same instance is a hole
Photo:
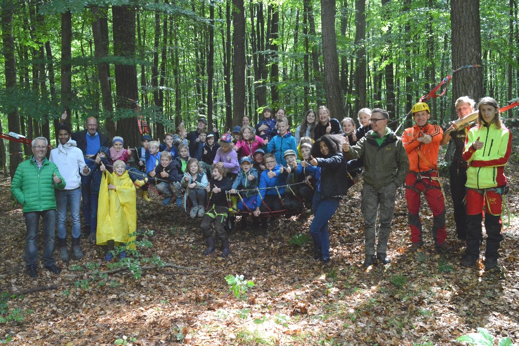
[[[124,336],[134,345],[447,345],[478,327],[517,343],[518,143],[514,140],[506,169],[511,225],[503,230],[500,273],[486,273],[483,265],[459,265],[464,247],[456,239],[444,173],[448,239],[455,246],[446,256],[434,252],[432,215],[425,204],[420,213],[426,246],[418,253],[408,251],[406,202],[399,196],[388,248],[391,264],[363,268],[359,185],[330,221],[333,260],[328,265],[312,259],[310,243],[289,243],[297,234],[308,234],[310,214],[270,222],[266,239],[237,230],[230,236],[231,256],[223,259],[219,251],[203,256],[199,219],[189,219],[171,204],[163,207],[152,192],[151,203],[138,197],[138,239],[153,244],[139,248],[142,266],[153,267],[143,258],[154,256],[168,266],[143,269],[138,279],[128,271],[104,279],[99,271],[110,268],[103,248],[84,241],[83,259],[57,259],[64,269],[60,275],[40,264],[39,277],[31,279],[24,266],[22,211],[10,199],[10,180],[4,178],[0,343],[113,345]],[[40,239],[40,254],[42,244]],[[244,298],[229,291],[229,274],[254,282]]]

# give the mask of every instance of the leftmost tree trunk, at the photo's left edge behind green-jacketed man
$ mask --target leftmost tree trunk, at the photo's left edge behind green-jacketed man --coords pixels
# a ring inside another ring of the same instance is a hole
[[[15,58],[15,39],[12,34],[12,15],[16,6],[12,0],[2,0],[0,2],[2,11],[2,44],[4,48],[4,71],[6,94],[15,97],[17,89],[16,80],[16,58]],[[7,113],[7,127],[9,132],[20,133],[20,118],[18,108],[13,107]],[[17,142],[9,141],[9,175],[15,175],[16,169],[22,162],[22,145]]]

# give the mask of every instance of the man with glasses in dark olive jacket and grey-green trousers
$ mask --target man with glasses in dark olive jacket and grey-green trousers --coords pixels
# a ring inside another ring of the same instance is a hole
[[[382,264],[390,262],[386,250],[397,188],[404,182],[409,170],[409,160],[403,143],[386,126],[388,121],[387,110],[373,109],[370,119],[372,130],[354,146],[350,146],[348,140],[343,144],[343,151],[348,159],[364,159],[361,206],[366,237],[364,267],[373,265],[375,259]],[[379,209],[380,225],[375,256],[376,221]]]

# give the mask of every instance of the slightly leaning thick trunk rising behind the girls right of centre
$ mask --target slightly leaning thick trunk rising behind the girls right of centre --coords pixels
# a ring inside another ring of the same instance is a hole
[[[321,0],[324,87],[330,116],[342,119],[344,100],[339,77],[339,57],[335,39],[335,0]]]

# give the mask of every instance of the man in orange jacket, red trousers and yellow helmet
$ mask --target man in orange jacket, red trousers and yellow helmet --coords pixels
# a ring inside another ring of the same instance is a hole
[[[407,200],[407,219],[411,228],[411,251],[424,245],[422,225],[418,215],[420,195],[424,192],[433,215],[432,237],[436,250],[452,250],[445,231],[445,200],[436,168],[438,151],[443,130],[429,123],[431,111],[425,102],[416,103],[411,109],[415,125],[404,130],[402,142],[409,157],[409,173],[405,178],[405,199]]]

